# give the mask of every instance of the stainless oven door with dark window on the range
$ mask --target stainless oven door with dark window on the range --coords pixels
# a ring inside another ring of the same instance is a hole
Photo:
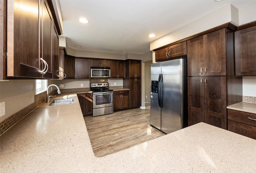
[[[113,91],[92,93],[92,108],[114,106]]]

